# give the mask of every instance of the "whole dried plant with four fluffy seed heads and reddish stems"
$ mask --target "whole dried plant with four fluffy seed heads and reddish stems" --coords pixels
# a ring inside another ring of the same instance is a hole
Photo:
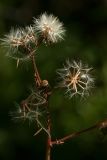
[[[71,133],[63,138],[53,140],[51,137],[51,115],[49,98],[53,93],[48,80],[42,80],[36,66],[36,51],[42,43],[46,46],[57,43],[64,39],[65,28],[57,17],[47,13],[34,18],[34,23],[25,28],[12,28],[10,33],[2,39],[2,45],[7,48],[7,55],[17,60],[17,67],[20,61],[29,59],[32,62],[34,71],[35,88],[30,95],[17,105],[16,112],[12,113],[16,120],[29,120],[35,122],[38,130],[34,135],[44,130],[47,134],[46,160],[51,159],[51,148],[53,145],[64,143],[82,133],[92,129],[104,129],[107,127],[107,120],[99,122],[90,128]],[[66,88],[65,95],[71,99],[73,96],[87,96],[94,85],[91,75],[92,68],[84,65],[82,61],[76,62],[69,59],[62,69],[57,70],[59,82],[56,89]]]

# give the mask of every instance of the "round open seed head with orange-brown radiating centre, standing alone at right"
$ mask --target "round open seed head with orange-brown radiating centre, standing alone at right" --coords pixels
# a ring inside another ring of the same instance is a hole
[[[82,62],[67,60],[63,69],[59,69],[57,73],[60,75],[59,87],[67,88],[66,94],[69,98],[74,95],[89,95],[89,90],[93,86],[93,78],[90,75],[92,68],[84,66]]]

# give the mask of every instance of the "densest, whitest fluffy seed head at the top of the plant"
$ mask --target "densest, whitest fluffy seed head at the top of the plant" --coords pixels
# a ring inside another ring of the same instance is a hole
[[[34,28],[46,42],[56,43],[62,40],[65,34],[63,23],[57,17],[47,13],[42,14],[38,19],[34,19]]]

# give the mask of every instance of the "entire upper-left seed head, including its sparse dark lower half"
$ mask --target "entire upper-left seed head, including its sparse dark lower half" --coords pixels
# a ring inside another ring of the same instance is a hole
[[[14,59],[25,60],[37,49],[37,37],[32,26],[12,28],[2,39],[2,45],[7,48],[7,55]]]

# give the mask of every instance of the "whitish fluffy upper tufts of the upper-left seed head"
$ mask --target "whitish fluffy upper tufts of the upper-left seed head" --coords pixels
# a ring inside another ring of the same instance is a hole
[[[12,28],[10,33],[5,35],[2,39],[4,46],[10,48],[18,48],[19,46],[26,46],[29,42],[36,42],[36,36],[32,26],[24,28]]]

